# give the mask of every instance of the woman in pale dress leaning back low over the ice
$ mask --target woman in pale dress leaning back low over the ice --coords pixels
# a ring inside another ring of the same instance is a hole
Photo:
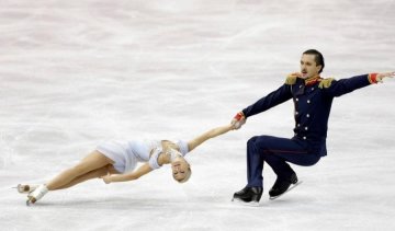
[[[34,204],[48,190],[71,187],[91,178],[102,178],[106,184],[111,182],[126,182],[159,169],[163,164],[171,164],[172,177],[179,183],[187,182],[192,172],[184,155],[210,138],[214,138],[229,130],[234,125],[211,129],[189,142],[179,140],[144,140],[144,141],[110,141],[102,143],[81,160],[77,165],[61,172],[55,178],[42,185],[18,185],[20,193],[29,193],[26,205]],[[133,171],[137,162],[145,162]]]

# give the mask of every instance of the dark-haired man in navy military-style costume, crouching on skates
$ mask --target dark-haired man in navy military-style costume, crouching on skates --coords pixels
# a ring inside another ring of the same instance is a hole
[[[315,49],[304,51],[301,73],[290,74],[282,86],[239,112],[232,120],[238,129],[249,116],[262,113],[290,99],[294,102],[293,138],[256,136],[248,140],[248,184],[234,194],[235,200],[259,203],[263,190],[263,162],[267,162],[276,174],[276,181],[269,192],[270,198],[276,198],[285,193],[291,184],[297,183],[296,173],[286,162],[309,166],[327,154],[326,137],[334,97],[382,82],[385,77],[395,76],[395,72],[369,73],[337,81],[320,78],[319,73],[323,72],[324,67],[324,57],[319,51]]]

